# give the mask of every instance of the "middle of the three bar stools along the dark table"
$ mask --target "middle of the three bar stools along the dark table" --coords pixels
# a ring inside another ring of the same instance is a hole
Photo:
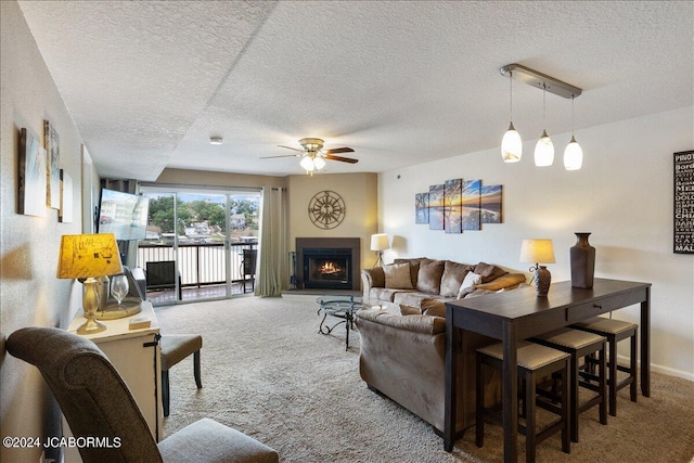
[[[600,423],[607,424],[607,372],[605,370],[605,344],[607,338],[587,331],[561,329],[536,336],[532,342],[571,356],[569,373],[569,382],[571,384],[569,393],[571,440],[578,442],[578,415],[594,406],[600,406]],[[595,352],[597,352],[597,375],[591,371],[579,370],[579,359]],[[579,403],[579,385],[597,393],[597,395],[583,403]]]

